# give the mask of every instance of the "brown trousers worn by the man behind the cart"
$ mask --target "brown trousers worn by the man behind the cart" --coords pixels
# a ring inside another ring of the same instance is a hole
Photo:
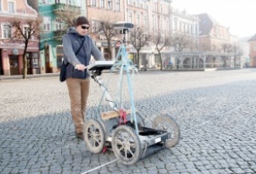
[[[84,129],[86,101],[89,95],[90,78],[67,78],[66,85],[70,97],[74,128],[77,133],[80,133]]]

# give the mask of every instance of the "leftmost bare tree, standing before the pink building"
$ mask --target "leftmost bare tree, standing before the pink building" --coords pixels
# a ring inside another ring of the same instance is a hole
[[[42,23],[41,18],[22,18],[13,17],[10,19],[10,24],[13,28],[12,39],[20,40],[24,42],[23,52],[23,78],[27,75],[27,49],[28,44],[32,37],[39,37],[40,29],[39,26]]]

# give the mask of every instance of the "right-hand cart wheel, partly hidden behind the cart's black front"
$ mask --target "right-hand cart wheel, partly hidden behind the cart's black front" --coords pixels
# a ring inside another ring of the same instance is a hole
[[[170,132],[170,137],[166,140],[165,147],[171,148],[178,143],[180,139],[180,130],[176,121],[172,117],[168,115],[160,115],[156,117],[153,127],[156,130]]]

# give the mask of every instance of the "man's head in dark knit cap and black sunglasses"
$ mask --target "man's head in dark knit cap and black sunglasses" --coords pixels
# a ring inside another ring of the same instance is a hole
[[[77,17],[75,20],[75,28],[81,36],[86,36],[90,23],[86,17]]]

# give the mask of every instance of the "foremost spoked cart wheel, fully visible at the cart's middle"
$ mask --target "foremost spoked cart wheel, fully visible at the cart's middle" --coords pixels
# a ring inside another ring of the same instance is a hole
[[[122,164],[132,165],[139,160],[141,142],[135,130],[127,125],[120,125],[114,130],[112,138],[114,155]]]

